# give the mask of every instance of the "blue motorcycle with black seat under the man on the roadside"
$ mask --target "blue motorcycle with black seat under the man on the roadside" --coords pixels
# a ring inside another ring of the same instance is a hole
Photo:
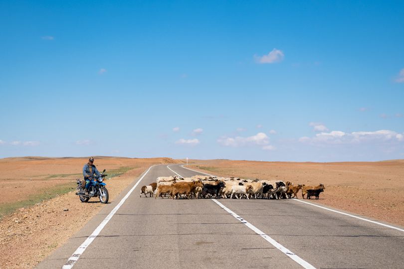
[[[108,195],[108,190],[105,187],[105,183],[102,182],[104,181],[104,177],[107,175],[104,175],[103,173],[105,172],[102,171],[100,176],[96,176],[96,177],[88,177],[88,179],[90,180],[90,185],[88,186],[88,195],[85,193],[84,191],[84,187],[82,184],[82,180],[80,178],[76,179],[77,181],[77,191],[76,195],[79,196],[80,201],[83,203],[87,203],[88,200],[91,197],[98,197],[100,199],[100,202],[103,204],[108,203],[108,199],[109,199],[109,195]],[[84,181],[85,184],[85,181]]]

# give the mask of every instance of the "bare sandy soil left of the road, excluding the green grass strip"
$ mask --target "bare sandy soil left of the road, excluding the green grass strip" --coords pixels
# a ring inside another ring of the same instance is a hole
[[[122,166],[139,167],[105,180],[110,201],[149,166],[178,162],[170,158],[94,158],[94,164],[100,170],[116,169]],[[87,160],[88,158],[33,158],[30,160],[8,158],[8,161],[1,159],[0,186],[3,188],[0,192],[0,202],[21,200],[32,192],[40,192],[43,186],[64,184],[66,181],[70,181],[75,186],[76,175],[59,179],[49,178],[49,175],[81,173]],[[35,178],[34,183],[30,178]],[[19,187],[13,188],[15,184]],[[67,194],[20,208],[11,215],[5,216],[0,220],[0,269],[33,268],[79,231],[103,206],[96,198],[90,199],[88,203],[81,203],[74,189]]]

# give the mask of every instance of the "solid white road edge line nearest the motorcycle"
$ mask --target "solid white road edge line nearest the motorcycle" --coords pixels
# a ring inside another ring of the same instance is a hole
[[[155,165],[153,165],[155,166]],[[70,269],[74,266],[76,261],[80,258],[80,256],[83,254],[83,252],[86,250],[86,248],[91,244],[91,242],[94,241],[94,239],[98,236],[98,234],[101,232],[101,230],[104,228],[104,226],[108,223],[108,221],[114,216],[114,214],[118,211],[118,209],[121,207],[121,205],[126,201],[126,199],[129,197],[129,195],[133,192],[133,190],[136,188],[136,186],[139,184],[139,182],[145,177],[145,175],[150,171],[150,169],[153,167],[150,166],[147,172],[139,179],[139,181],[133,186],[133,188],[125,195],[124,198],[119,202],[119,204],[111,211],[111,213],[108,214],[108,216],[101,222],[101,224],[94,230],[94,232],[84,241],[83,244],[81,244],[80,247],[73,253],[73,255],[67,260],[66,264],[62,267],[62,269]]]

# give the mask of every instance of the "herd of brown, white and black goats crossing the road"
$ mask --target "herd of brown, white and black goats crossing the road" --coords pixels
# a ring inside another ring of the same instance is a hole
[[[325,189],[323,184],[318,186],[309,186],[298,184],[294,186],[292,182],[281,180],[249,180],[240,178],[224,178],[211,176],[193,176],[182,178],[178,176],[159,177],[157,182],[149,186],[141,188],[140,197],[144,193],[164,198],[169,195],[170,198],[230,198],[240,199],[245,197],[263,198],[263,199],[280,199],[280,198],[297,198],[297,193],[302,190],[302,197],[307,195],[307,199],[314,196],[319,198],[320,192]],[[293,197],[292,197],[293,195]]]

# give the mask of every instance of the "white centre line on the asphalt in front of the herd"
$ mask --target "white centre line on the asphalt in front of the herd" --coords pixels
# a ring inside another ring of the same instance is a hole
[[[289,251],[287,248],[285,248],[284,246],[282,246],[281,244],[279,244],[278,242],[276,242],[275,240],[273,240],[271,237],[267,236],[266,234],[264,234],[263,232],[261,232],[261,230],[259,230],[258,228],[256,228],[255,226],[253,226],[252,224],[250,224],[249,222],[247,222],[246,220],[242,219],[240,216],[238,216],[237,214],[235,214],[233,211],[231,211],[230,209],[228,209],[227,207],[225,207],[224,205],[222,205],[221,203],[219,203],[216,199],[211,199],[213,202],[215,202],[216,204],[218,204],[221,208],[223,208],[225,211],[227,211],[228,213],[230,213],[234,218],[236,218],[237,220],[239,220],[240,222],[244,223],[248,228],[250,228],[251,230],[253,230],[256,234],[258,234],[259,236],[261,236],[263,239],[265,239],[266,241],[268,241],[269,243],[271,243],[275,248],[277,248],[278,250],[280,250],[281,252],[283,252],[284,254],[286,254],[290,259],[292,259],[293,261],[295,261],[296,263],[298,263],[299,265],[301,265],[302,267],[306,268],[306,269],[316,269],[314,266],[312,266],[311,264],[309,264],[308,262],[306,262],[305,260],[303,260],[302,258],[300,258],[299,256],[297,256],[296,254],[294,254],[293,252]]]

